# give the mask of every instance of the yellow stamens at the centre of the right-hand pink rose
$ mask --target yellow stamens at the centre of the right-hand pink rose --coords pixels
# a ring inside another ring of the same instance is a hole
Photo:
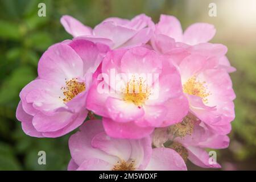
[[[193,96],[199,96],[203,99],[205,104],[208,103],[207,97],[210,93],[207,90],[206,82],[197,81],[196,76],[192,76],[187,82],[185,82],[183,85],[183,92]]]

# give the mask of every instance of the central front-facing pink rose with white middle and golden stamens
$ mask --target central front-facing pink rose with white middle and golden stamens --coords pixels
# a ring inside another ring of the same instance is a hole
[[[155,51],[144,47],[110,51],[101,69],[105,80],[94,82],[86,107],[103,117],[110,137],[143,138],[155,127],[180,122],[187,114],[188,102],[176,67]],[[123,85],[113,86],[117,82],[113,77]],[[104,93],[99,91],[102,83]]]

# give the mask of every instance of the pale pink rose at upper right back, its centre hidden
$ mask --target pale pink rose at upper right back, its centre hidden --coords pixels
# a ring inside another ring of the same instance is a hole
[[[216,29],[212,24],[195,23],[182,31],[179,20],[174,16],[161,15],[151,38],[152,47],[160,53],[168,53],[172,57],[184,57],[191,53],[217,59],[218,67],[228,72],[236,71],[225,56],[227,48],[221,44],[207,43],[213,38]],[[180,59],[181,60],[181,59]]]

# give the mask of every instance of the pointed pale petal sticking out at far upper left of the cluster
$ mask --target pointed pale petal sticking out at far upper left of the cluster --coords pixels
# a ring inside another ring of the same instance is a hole
[[[64,15],[60,19],[60,23],[63,25],[65,30],[73,37],[81,35],[92,35],[92,28],[84,26],[79,20],[69,15]]]

